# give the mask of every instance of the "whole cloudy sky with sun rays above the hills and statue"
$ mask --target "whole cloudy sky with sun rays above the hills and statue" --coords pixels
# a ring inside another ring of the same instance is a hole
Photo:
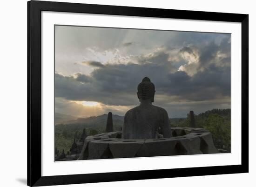
[[[55,26],[55,111],[124,115],[148,76],[170,118],[230,108],[230,34]]]

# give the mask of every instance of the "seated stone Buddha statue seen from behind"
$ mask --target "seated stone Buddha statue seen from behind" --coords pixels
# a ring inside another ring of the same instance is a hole
[[[171,137],[169,117],[165,109],[152,105],[155,85],[145,77],[138,85],[140,105],[130,109],[124,116],[123,139],[155,139],[161,128],[164,138]]]

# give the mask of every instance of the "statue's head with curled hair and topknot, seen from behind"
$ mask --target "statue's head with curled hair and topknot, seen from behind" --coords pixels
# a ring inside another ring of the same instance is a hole
[[[151,102],[154,102],[155,85],[148,77],[142,79],[142,82],[138,85],[137,95],[140,101],[150,99]]]

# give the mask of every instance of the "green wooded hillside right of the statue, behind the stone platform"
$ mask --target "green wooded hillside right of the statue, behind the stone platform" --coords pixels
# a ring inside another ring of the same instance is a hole
[[[209,130],[213,135],[216,148],[226,149],[230,152],[231,138],[231,110],[213,109],[204,113],[195,114],[195,126]],[[187,118],[171,119],[172,127],[189,127],[189,114]]]

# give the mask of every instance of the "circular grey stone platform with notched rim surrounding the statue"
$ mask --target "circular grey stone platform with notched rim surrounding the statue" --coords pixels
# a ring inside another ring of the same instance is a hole
[[[171,138],[121,139],[122,132],[88,136],[78,160],[218,153],[212,134],[203,128],[172,127]]]

